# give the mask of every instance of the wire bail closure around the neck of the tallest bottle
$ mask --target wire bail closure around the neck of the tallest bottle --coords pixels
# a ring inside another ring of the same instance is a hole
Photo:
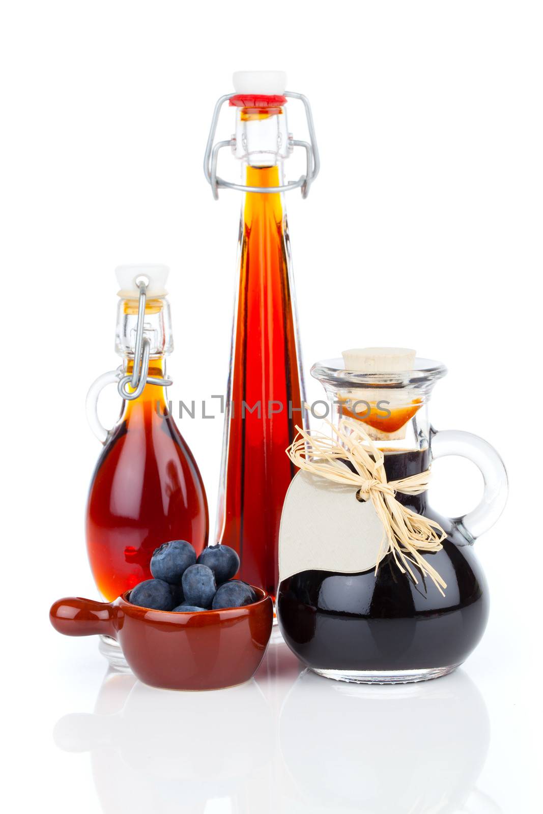
[[[304,94],[296,94],[286,90],[283,94],[288,98],[299,99],[305,108],[305,118],[308,123],[309,129],[309,142],[299,141],[298,139],[291,138],[289,133],[288,146],[304,147],[306,157],[306,170],[304,175],[300,175],[297,181],[289,181],[282,186],[247,186],[245,184],[233,184],[230,181],[225,181],[217,175],[217,160],[219,151],[222,147],[235,147],[235,138],[230,138],[228,141],[213,143],[215,140],[215,133],[217,131],[217,122],[221,113],[221,107],[226,102],[229,102],[236,94],[226,94],[217,100],[213,117],[211,120],[211,127],[209,129],[208,144],[205,148],[204,157],[204,175],[208,184],[211,186],[213,198],[215,200],[219,197],[219,188],[229,190],[239,190],[240,192],[289,192],[290,190],[301,189],[302,198],[307,198],[309,195],[309,187],[318,175],[321,168],[321,162],[318,155],[317,136],[315,135],[315,125],[313,125],[313,115],[311,113],[311,106],[309,99]],[[135,366],[134,366],[135,370]],[[122,394],[121,394],[122,395]],[[123,396],[126,398],[127,396]]]

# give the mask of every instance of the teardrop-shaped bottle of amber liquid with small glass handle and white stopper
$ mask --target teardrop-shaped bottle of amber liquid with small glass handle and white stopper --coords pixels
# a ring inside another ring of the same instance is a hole
[[[166,400],[165,357],[173,350],[167,273],[164,267],[117,269],[116,352],[123,365],[97,379],[87,400],[91,427],[104,444],[87,502],[87,550],[107,600],[151,577],[149,561],[162,543],[189,540],[199,553],[208,540],[204,484]],[[118,422],[106,431],[96,400],[110,382],[118,384],[124,400]]]

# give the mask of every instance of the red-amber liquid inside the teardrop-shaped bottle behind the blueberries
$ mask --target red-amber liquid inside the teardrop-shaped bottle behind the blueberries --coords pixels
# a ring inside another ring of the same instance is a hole
[[[162,376],[161,360],[149,375]],[[130,371],[129,371],[130,372]],[[149,561],[168,540],[208,541],[208,502],[198,466],[169,414],[161,387],[125,402],[94,470],[86,513],[94,580],[112,600],[151,577]]]

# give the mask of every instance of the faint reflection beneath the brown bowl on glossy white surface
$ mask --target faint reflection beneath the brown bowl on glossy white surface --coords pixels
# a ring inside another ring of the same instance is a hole
[[[176,693],[109,672],[96,711],[59,720],[55,741],[90,751],[107,814],[204,814],[217,798],[231,801],[225,811],[243,811],[247,786],[271,762],[273,718],[255,681]]]

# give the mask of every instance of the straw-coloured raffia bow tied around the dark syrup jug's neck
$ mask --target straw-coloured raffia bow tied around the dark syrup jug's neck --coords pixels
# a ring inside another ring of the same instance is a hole
[[[336,484],[357,486],[360,497],[373,503],[384,528],[375,573],[383,557],[392,554],[402,574],[407,571],[417,583],[411,565],[418,567],[444,596],[446,583],[421,552],[440,551],[447,535],[435,520],[428,520],[396,500],[396,492],[404,495],[426,492],[430,470],[410,475],[409,478],[388,481],[384,454],[375,446],[361,422],[342,418],[339,427],[334,427],[324,420],[337,438],[321,431],[305,431],[296,427],[298,435],[286,450],[291,462],[299,469]],[[355,471],[345,465],[345,460],[353,465]]]

